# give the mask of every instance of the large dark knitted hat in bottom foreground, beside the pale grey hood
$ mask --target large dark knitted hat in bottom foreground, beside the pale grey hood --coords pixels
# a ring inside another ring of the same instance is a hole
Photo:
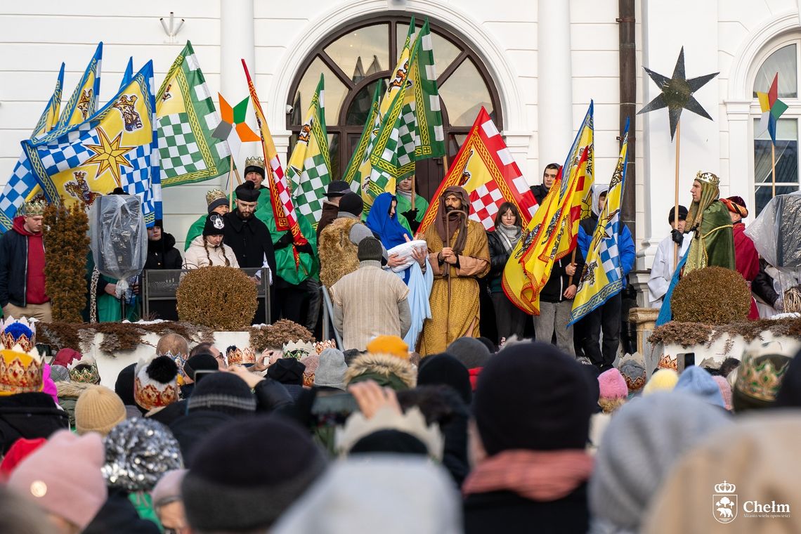
[[[258,450],[274,462],[221,462]],[[276,416],[237,420],[199,444],[181,484],[183,506],[199,531],[268,528],[323,472],[311,436]]]

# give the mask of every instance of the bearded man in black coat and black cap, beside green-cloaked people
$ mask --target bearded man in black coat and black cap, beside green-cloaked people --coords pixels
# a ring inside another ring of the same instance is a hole
[[[252,182],[245,182],[234,190],[236,208],[223,215],[225,229],[223,243],[233,249],[239,267],[270,267],[270,275],[276,277],[276,254],[267,225],[253,215],[259,203],[259,190]],[[264,276],[267,273],[263,273]],[[256,308],[256,323],[264,323],[264,311]]]

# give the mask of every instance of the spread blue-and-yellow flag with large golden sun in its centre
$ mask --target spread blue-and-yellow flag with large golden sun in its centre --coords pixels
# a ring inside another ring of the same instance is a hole
[[[153,63],[147,62],[96,114],[22,142],[50,203],[86,203],[121,187],[142,199],[145,222],[161,219]]]

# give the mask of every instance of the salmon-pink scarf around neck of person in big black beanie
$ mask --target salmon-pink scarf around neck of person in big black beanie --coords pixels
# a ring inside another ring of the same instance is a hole
[[[530,500],[559,500],[590,479],[593,462],[583,449],[499,452],[473,469],[461,491],[468,496],[508,490]]]

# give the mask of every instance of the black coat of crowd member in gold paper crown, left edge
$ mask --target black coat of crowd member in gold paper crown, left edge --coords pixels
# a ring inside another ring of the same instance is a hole
[[[0,397],[0,452],[5,455],[19,438],[49,438],[70,428],[70,416],[47,393],[18,393]]]

